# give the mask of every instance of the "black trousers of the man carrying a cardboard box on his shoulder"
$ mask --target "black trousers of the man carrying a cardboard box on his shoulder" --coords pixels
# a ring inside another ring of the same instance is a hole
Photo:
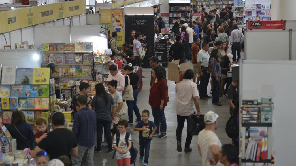
[[[187,124],[188,124],[188,118],[189,116],[177,115],[177,130],[176,130],[177,141],[181,141],[182,130],[184,127],[185,119],[187,120]],[[186,142],[185,142],[186,148],[190,147],[191,140],[192,140],[192,135],[187,133]]]

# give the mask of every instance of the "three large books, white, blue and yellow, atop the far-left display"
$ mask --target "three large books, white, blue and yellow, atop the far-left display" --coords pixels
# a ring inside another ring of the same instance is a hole
[[[17,68],[17,66],[3,66],[1,84],[49,84],[49,74],[49,68]]]

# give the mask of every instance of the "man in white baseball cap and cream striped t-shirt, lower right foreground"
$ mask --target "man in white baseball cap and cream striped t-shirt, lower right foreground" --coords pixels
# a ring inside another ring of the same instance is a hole
[[[222,166],[219,162],[219,152],[221,149],[221,142],[215,134],[217,129],[217,118],[219,116],[213,111],[205,114],[205,129],[198,134],[198,152],[202,157],[202,166],[210,166],[210,163]]]

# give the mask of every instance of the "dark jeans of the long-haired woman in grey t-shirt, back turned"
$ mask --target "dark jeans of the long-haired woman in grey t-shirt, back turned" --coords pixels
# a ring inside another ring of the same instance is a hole
[[[103,120],[103,119],[96,119],[96,148],[101,150],[102,147],[102,136],[103,136],[103,126],[104,126],[104,133],[107,137],[108,149],[112,149],[112,136],[111,136],[111,120]]]

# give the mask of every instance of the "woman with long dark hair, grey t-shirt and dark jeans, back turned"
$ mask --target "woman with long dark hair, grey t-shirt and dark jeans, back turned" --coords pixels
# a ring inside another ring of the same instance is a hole
[[[96,95],[91,102],[91,109],[96,113],[96,132],[97,132],[97,146],[95,152],[101,153],[103,126],[104,133],[107,137],[108,153],[112,153],[112,136],[111,136],[111,123],[117,111],[114,109],[114,100],[102,83],[96,84]]]

